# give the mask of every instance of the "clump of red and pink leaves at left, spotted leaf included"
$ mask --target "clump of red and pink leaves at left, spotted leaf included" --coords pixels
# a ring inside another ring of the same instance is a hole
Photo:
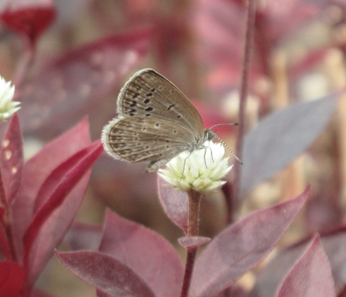
[[[18,271],[18,267],[23,282],[16,288],[24,287],[29,294],[72,224],[87,188],[91,165],[103,151],[100,141],[90,143],[87,120],[48,143],[24,165],[21,144],[15,114],[0,152],[1,265],[9,271],[1,275],[1,296],[5,296],[7,282],[14,286],[10,272]]]

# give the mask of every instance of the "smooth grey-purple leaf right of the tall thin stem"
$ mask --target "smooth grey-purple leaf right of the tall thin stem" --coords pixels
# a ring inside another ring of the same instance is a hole
[[[241,196],[272,177],[311,145],[330,121],[339,96],[293,104],[262,120],[246,137]]]

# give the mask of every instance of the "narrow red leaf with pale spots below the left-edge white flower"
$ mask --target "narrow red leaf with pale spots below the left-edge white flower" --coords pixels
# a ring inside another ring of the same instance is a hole
[[[15,113],[2,140],[0,150],[1,176],[8,205],[12,204],[22,181],[23,137],[18,114]]]

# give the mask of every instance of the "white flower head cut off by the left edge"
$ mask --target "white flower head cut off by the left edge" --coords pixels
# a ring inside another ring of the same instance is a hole
[[[0,122],[9,118],[20,107],[18,101],[12,101],[14,95],[14,86],[11,87],[11,82],[6,82],[0,77]]]

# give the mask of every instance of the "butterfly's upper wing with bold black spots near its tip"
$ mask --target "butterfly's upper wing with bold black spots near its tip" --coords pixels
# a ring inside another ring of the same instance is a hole
[[[136,72],[118,97],[118,113],[124,117],[145,116],[169,120],[204,137],[203,121],[189,99],[169,80],[152,69]]]

